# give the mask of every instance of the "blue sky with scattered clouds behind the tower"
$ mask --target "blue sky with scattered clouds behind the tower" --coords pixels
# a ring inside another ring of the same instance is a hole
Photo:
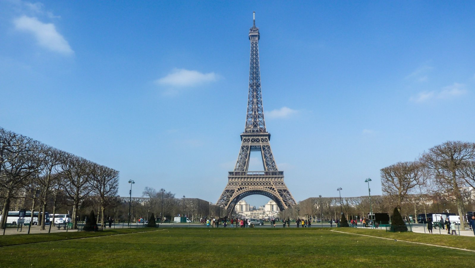
[[[0,126],[216,202],[244,130],[252,11],[271,147],[295,199],[474,141],[469,1],[0,1]],[[250,169],[261,170],[259,155]],[[262,205],[264,197],[248,197]]]

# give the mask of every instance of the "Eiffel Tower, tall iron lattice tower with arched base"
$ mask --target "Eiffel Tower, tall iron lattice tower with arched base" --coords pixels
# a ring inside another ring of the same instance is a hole
[[[263,195],[274,200],[280,210],[295,204],[284,182],[284,171],[277,169],[270,149],[270,133],[266,131],[262,108],[261,74],[259,67],[259,28],[256,27],[255,12],[253,25],[249,30],[251,57],[249,68],[249,95],[244,132],[241,133],[241,149],[234,171],[228,172],[228,185],[224,188],[217,205],[231,214],[237,202],[250,195]],[[251,151],[260,151],[264,171],[248,171]]]

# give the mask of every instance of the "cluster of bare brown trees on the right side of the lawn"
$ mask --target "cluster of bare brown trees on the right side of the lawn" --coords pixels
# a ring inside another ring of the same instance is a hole
[[[455,204],[461,227],[465,228],[467,206],[473,209],[475,189],[475,143],[447,141],[424,152],[414,161],[398,162],[381,169],[381,187],[391,204],[399,209],[407,202],[424,206],[431,200]],[[432,212],[432,211],[430,211]],[[437,212],[441,212],[437,209]]]

